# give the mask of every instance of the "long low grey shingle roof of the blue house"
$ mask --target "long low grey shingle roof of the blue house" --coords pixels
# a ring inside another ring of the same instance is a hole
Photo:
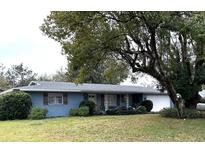
[[[71,82],[51,82],[51,81],[32,81],[29,86],[17,87],[22,91],[47,91],[47,92],[96,92],[96,93],[149,93],[149,94],[165,94],[156,89],[125,86],[112,84],[75,84]]]

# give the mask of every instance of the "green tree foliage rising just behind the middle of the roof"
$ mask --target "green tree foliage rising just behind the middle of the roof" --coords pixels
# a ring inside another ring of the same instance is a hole
[[[79,57],[75,56],[72,58],[66,73],[70,82],[118,84],[126,79],[129,74],[128,65],[113,57],[106,57],[104,60],[96,61],[86,67],[81,67],[77,63],[73,64],[74,58],[77,59]],[[97,55],[93,58],[97,58]]]

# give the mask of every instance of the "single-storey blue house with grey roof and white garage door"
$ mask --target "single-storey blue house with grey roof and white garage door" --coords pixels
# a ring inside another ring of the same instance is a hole
[[[48,109],[48,116],[67,116],[71,108],[78,108],[83,100],[92,100],[97,109],[106,111],[117,106],[137,106],[142,100],[153,102],[152,111],[173,104],[166,93],[152,88],[111,84],[74,84],[70,82],[32,81],[3,93],[20,90],[31,95],[33,106]]]

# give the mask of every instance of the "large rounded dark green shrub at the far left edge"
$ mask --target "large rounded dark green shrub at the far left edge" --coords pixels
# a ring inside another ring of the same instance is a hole
[[[0,120],[26,119],[32,106],[25,92],[10,92],[0,96]]]

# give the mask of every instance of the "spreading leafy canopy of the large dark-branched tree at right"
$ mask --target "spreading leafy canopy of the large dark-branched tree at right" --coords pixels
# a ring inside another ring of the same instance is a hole
[[[180,93],[195,107],[205,82],[204,27],[204,12],[54,11],[41,30],[62,45],[73,67],[123,61],[157,79],[174,103]]]

